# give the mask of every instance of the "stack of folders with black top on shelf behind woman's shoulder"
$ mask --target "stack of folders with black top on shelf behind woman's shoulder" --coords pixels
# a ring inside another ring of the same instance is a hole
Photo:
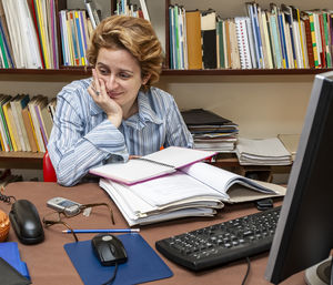
[[[193,135],[194,149],[215,152],[234,150],[239,130],[231,120],[203,109],[191,109],[181,113]]]

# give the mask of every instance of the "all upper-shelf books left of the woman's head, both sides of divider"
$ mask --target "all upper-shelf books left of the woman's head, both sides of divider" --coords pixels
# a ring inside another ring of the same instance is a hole
[[[60,54],[64,65],[87,65],[89,38],[100,18],[91,1],[84,3],[87,11],[59,11],[59,37],[56,0],[0,1],[0,68],[59,69]]]

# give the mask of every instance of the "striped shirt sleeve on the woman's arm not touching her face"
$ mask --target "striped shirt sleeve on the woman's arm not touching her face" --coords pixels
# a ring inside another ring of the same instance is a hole
[[[186,124],[178,109],[175,101],[172,99],[170,110],[167,114],[167,135],[164,146],[184,146],[193,147],[193,138],[188,130]]]

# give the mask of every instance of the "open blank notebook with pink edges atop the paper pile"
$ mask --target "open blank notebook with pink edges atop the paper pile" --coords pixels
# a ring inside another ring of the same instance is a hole
[[[128,185],[175,172],[176,169],[213,156],[215,152],[169,146],[161,151],[131,159],[128,162],[110,163],[89,172]]]

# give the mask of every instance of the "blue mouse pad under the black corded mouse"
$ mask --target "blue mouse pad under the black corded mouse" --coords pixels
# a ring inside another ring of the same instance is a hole
[[[128,262],[119,264],[112,285],[138,284],[168,278],[171,269],[140,234],[118,235],[123,243]],[[91,247],[91,241],[65,244],[64,250],[85,285],[101,285],[109,281],[114,266],[102,266]]]

